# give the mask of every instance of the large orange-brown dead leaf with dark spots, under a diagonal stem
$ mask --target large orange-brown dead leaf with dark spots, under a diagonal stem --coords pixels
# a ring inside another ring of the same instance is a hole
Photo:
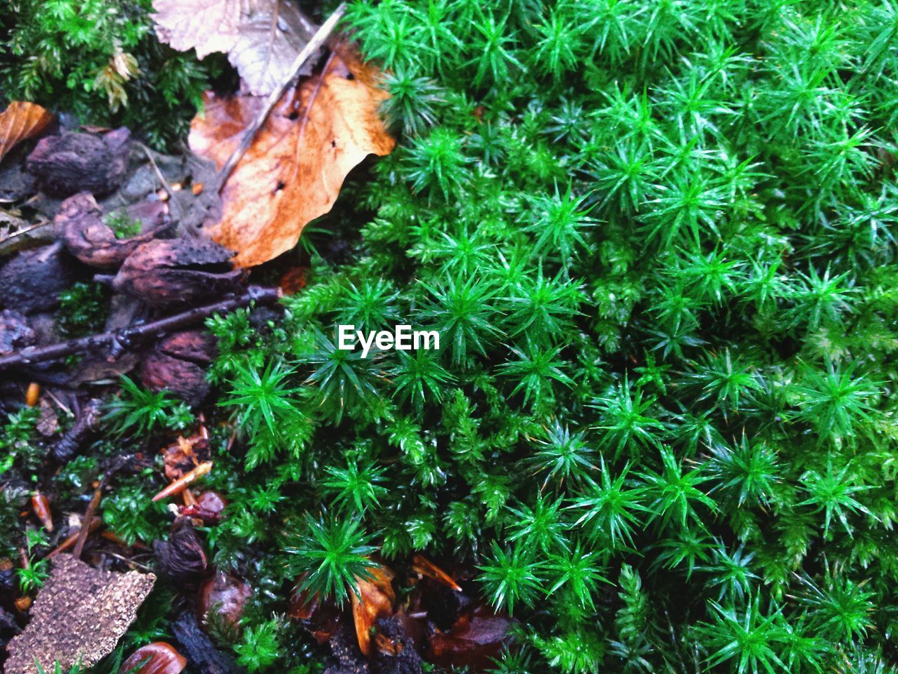
[[[286,91],[225,183],[222,218],[209,234],[252,267],[293,248],[314,218],[327,213],[347,173],[367,155],[389,155],[395,139],[378,112],[389,95],[380,71],[357,51],[338,47],[321,75]],[[264,101],[205,97],[190,147],[219,168]]]

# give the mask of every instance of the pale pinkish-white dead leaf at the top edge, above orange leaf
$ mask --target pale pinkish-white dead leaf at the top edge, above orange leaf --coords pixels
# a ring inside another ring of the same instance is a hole
[[[287,77],[316,26],[279,0],[154,0],[156,34],[174,49],[228,55],[250,93],[267,96]],[[301,71],[309,75],[311,70]]]

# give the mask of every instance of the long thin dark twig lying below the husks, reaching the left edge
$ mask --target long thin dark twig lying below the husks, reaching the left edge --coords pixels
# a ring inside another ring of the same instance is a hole
[[[119,343],[125,347],[133,347],[144,341],[153,340],[163,334],[172,333],[189,325],[197,324],[214,314],[225,314],[252,302],[259,305],[270,305],[281,297],[280,288],[262,288],[251,286],[239,297],[225,299],[206,306],[197,306],[189,311],[160,318],[152,323],[132,325],[112,333],[94,334],[77,340],[61,341],[48,346],[29,346],[0,357],[0,371],[9,368],[21,368],[46,360],[56,360],[84,351],[97,352]]]

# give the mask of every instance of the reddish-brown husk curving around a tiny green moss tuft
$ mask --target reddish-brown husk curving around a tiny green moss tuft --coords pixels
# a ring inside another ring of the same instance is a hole
[[[168,225],[168,218],[162,208],[145,210],[148,219],[141,220],[141,233],[119,239],[104,222],[102,209],[93,195],[90,192],[80,192],[62,202],[56,224],[62,232],[69,253],[91,267],[113,270],[118,269],[138,245],[145,244]]]

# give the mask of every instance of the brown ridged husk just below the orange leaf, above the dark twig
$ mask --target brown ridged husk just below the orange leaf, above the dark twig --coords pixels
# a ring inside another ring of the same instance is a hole
[[[232,258],[207,239],[156,239],[128,255],[112,288],[153,306],[197,304],[240,288],[244,272],[233,269]]]

